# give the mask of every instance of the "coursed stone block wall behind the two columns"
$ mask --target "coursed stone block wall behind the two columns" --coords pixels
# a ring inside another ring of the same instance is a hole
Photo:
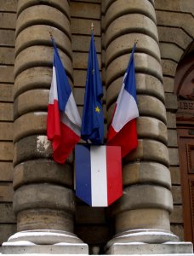
[[[103,0],[103,3],[106,1]],[[0,243],[6,241],[16,231],[15,217],[12,211],[14,101],[12,91],[14,85],[16,5],[16,0],[1,1],[0,3]],[[171,230],[175,235],[180,236],[180,239],[183,239],[174,75],[181,56],[194,37],[192,27],[194,9],[191,9],[193,8],[192,0],[155,0],[155,6],[167,108],[170,172],[173,183],[174,212],[170,217]],[[70,14],[74,95],[79,111],[82,113],[92,22],[94,23],[95,46],[102,81],[105,85],[105,7],[104,4],[101,5],[101,0],[71,0]],[[60,47],[63,48],[61,45]],[[21,49],[18,48],[17,50],[20,52]],[[104,105],[106,105],[106,95]],[[91,208],[77,200],[75,233],[83,241],[91,245],[105,244],[112,236],[111,231],[109,209]]]

